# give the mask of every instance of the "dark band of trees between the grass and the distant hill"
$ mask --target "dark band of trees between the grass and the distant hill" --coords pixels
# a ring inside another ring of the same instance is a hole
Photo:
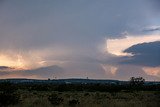
[[[0,91],[5,93],[12,93],[16,90],[28,91],[100,91],[100,92],[118,92],[118,91],[159,91],[160,84],[144,85],[142,81],[130,80],[126,84],[33,84],[33,83],[0,83]]]

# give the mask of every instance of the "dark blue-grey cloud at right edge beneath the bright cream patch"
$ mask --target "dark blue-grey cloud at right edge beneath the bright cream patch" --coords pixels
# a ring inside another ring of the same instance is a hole
[[[124,52],[132,53],[123,63],[142,66],[160,66],[160,41],[142,43],[129,47]]]

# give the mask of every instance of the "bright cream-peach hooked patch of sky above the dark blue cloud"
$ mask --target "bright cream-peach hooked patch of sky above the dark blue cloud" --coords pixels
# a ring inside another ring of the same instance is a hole
[[[160,41],[160,35],[126,36],[120,39],[107,39],[105,50],[117,56],[131,56],[130,53],[124,53],[123,51],[139,43],[154,41]]]

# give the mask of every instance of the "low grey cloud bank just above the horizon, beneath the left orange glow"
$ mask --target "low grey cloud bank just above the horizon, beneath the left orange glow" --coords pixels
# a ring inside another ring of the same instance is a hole
[[[1,78],[54,78],[64,73],[64,69],[57,65],[40,67],[31,70],[17,70],[10,67],[0,69]]]

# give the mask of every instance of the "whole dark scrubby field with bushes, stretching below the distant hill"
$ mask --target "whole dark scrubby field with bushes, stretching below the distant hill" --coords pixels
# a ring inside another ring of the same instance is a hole
[[[160,105],[160,85],[157,83],[66,84],[21,81],[0,83],[0,107],[159,107]]]

